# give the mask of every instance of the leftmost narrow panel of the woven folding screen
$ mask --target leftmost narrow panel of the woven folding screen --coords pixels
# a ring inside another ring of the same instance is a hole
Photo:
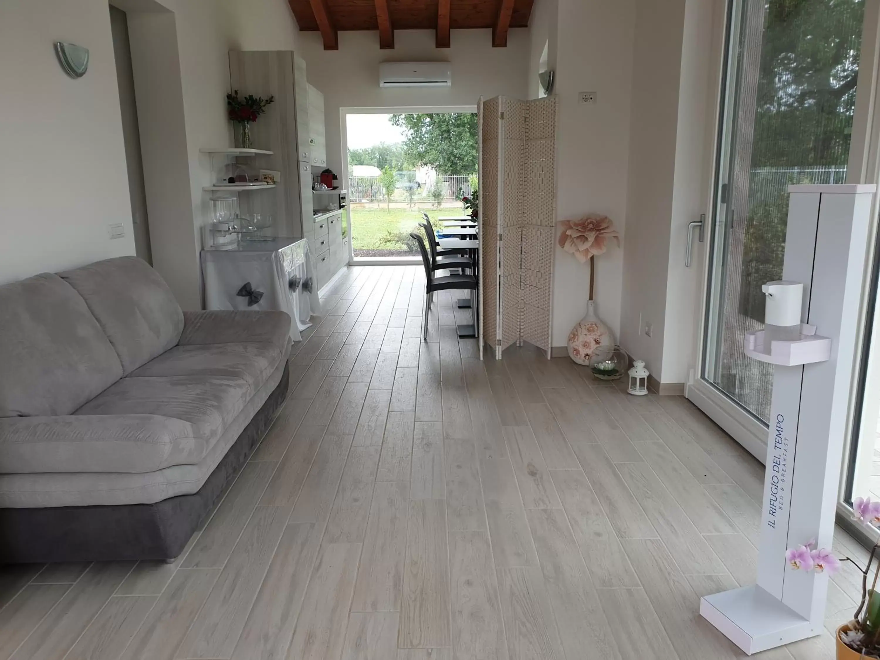
[[[483,341],[498,337],[498,113],[499,99],[482,104],[482,172],[480,172],[480,277],[483,283]]]

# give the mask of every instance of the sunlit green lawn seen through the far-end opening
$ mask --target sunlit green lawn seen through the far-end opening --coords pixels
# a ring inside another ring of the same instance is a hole
[[[438,216],[454,216],[457,209],[351,209],[351,246],[355,256],[383,257],[417,255],[410,231],[422,233],[422,211],[431,218],[432,224],[440,226]],[[412,248],[412,251],[411,251]]]

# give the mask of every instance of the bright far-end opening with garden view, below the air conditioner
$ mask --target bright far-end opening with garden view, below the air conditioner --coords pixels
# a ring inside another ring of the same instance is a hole
[[[355,261],[419,258],[409,236],[422,214],[464,213],[477,188],[477,115],[473,112],[345,115],[348,217]]]

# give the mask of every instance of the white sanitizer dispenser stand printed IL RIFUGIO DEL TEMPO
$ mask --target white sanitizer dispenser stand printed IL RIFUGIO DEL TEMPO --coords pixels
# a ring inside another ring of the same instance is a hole
[[[749,655],[823,630],[828,576],[791,570],[785,551],[832,546],[875,189],[788,188],[783,279],[803,282],[802,336],[746,336],[747,355],[776,365],[758,583],[701,598],[700,614]]]

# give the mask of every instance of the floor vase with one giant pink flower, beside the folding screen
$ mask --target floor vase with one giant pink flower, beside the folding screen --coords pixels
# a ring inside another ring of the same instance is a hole
[[[620,246],[620,234],[606,216],[589,214],[579,220],[563,220],[559,237],[560,247],[582,263],[590,262],[590,299],[587,313],[568,333],[568,356],[578,364],[590,364],[590,357],[602,346],[612,346],[614,337],[611,330],[596,313],[593,291],[596,281],[595,258],[607,249],[606,241],[614,238]]]

